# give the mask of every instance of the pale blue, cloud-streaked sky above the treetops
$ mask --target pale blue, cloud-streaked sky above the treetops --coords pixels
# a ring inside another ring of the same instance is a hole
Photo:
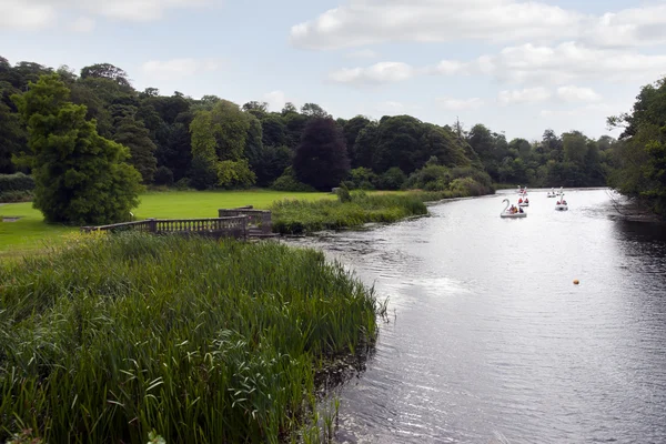
[[[666,75],[666,0],[0,0],[0,56],[138,90],[335,118],[411,114],[507,139],[608,132]]]

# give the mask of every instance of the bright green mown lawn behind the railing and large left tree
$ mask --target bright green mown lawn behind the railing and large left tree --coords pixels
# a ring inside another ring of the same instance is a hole
[[[141,195],[135,218],[191,219],[216,218],[218,209],[253,205],[268,209],[283,199],[333,199],[330,193],[290,193],[271,190],[250,191],[168,191],[148,192]],[[43,222],[41,212],[31,202],[0,205],[0,215],[20,216],[17,222],[0,222],[0,258],[18,256],[58,244],[67,234],[77,233],[78,226],[50,225]]]

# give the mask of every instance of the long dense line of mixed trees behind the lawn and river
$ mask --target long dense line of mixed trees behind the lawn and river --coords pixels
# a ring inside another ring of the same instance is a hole
[[[613,153],[626,145],[609,137],[592,140],[578,131],[558,135],[552,130],[539,141],[507,141],[481,123],[467,131],[460,122],[438,125],[410,115],[334,119],[315,103],[300,110],[286,103],[272,112],[264,102],[240,107],[215,95],[137,91],[127,72],[109,63],[75,73],[32,62],[11,65],[0,58],[0,173],[30,173],[26,162],[12,162],[12,154],[28,147],[28,123],[12,97],[26,93],[43,74],[64,82],[69,100],[84,107],[99,137],[129,150],[127,161],[145,185],[329,190],[343,182],[350,188],[434,190],[451,188],[462,176],[488,186],[491,180],[604,185]],[[636,139],[636,130],[627,131],[625,139]]]

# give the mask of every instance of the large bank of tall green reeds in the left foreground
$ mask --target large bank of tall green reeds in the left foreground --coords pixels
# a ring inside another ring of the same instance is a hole
[[[0,442],[276,443],[323,360],[375,337],[320,252],[133,233],[0,268]]]

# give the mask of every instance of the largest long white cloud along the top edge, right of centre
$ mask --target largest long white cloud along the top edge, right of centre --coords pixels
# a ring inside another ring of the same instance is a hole
[[[296,47],[336,49],[386,41],[552,39],[574,36],[585,17],[537,1],[349,0],[291,29]]]

